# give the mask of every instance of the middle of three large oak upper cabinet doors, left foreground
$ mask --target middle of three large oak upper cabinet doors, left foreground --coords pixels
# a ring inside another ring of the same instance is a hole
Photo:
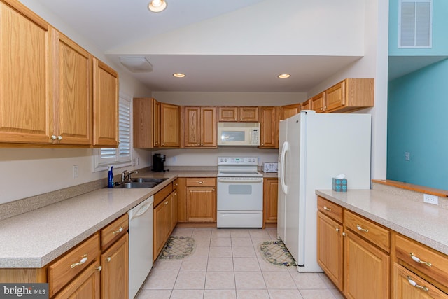
[[[52,30],[55,144],[92,144],[92,55]]]

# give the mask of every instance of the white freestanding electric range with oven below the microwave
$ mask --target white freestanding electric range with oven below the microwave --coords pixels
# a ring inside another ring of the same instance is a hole
[[[218,157],[218,228],[262,228],[263,176],[258,158]]]

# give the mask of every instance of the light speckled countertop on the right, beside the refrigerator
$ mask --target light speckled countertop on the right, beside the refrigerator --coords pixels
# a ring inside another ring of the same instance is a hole
[[[448,209],[381,190],[316,190],[316,194],[448,254]]]

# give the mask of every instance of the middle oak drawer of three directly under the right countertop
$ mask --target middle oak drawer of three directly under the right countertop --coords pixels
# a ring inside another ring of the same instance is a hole
[[[381,226],[344,210],[344,227],[369,240],[387,252],[391,251],[391,232]]]

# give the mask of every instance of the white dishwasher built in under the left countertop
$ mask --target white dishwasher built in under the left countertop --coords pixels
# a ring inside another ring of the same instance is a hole
[[[153,267],[153,202],[151,196],[129,216],[129,299],[134,299]]]

